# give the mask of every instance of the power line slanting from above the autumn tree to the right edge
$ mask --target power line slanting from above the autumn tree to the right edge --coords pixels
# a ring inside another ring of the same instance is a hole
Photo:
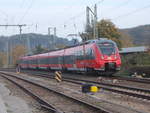
[[[136,10],[134,10],[134,11],[132,11],[132,12],[129,12],[129,13],[126,13],[126,14],[123,14],[123,15],[120,15],[120,16],[117,16],[117,17],[115,17],[115,18],[113,18],[113,19],[111,19],[111,20],[118,20],[118,19],[120,19],[120,18],[127,17],[127,16],[130,16],[130,15],[132,15],[132,14],[141,12],[141,11],[143,11],[144,9],[147,9],[147,8],[150,8],[150,4],[147,5],[147,6],[144,6],[144,7],[142,7],[142,8],[136,9]]]

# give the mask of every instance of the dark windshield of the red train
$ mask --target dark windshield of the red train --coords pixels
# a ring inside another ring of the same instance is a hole
[[[115,45],[113,43],[100,43],[98,44],[99,49],[104,55],[112,55],[115,54]]]

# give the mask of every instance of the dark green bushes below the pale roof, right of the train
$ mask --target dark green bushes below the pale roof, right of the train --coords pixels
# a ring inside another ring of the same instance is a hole
[[[138,74],[145,73],[150,75],[150,53],[135,53],[122,55],[122,69],[116,75],[132,75],[134,72]]]

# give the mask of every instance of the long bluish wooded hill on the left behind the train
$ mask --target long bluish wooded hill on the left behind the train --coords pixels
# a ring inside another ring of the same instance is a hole
[[[8,41],[9,40],[9,41]],[[53,43],[55,41],[55,44]],[[7,51],[7,44],[9,44],[9,51],[16,45],[25,45],[29,47],[30,52],[33,52],[36,46],[41,45],[43,48],[52,50],[55,47],[71,46],[74,44],[74,40],[68,40],[62,37],[54,37],[53,35],[42,35],[42,34],[22,34],[13,36],[0,36],[0,51]]]

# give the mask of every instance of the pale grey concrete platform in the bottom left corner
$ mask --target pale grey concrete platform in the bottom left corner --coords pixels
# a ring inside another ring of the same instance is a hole
[[[32,113],[25,100],[11,95],[10,90],[0,82],[0,113]]]

